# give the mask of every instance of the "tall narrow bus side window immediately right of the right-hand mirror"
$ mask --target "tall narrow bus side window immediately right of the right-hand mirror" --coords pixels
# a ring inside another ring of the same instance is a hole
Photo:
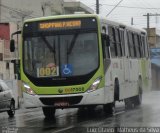
[[[116,38],[115,38],[115,29],[113,27],[109,27],[109,38],[110,38],[110,50],[111,57],[117,56],[117,47],[116,47]]]

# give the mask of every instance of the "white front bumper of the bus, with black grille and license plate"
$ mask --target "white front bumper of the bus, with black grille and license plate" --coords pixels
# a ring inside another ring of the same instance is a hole
[[[104,88],[93,92],[67,95],[30,95],[23,92],[26,108],[52,106],[70,108],[85,105],[104,104]]]

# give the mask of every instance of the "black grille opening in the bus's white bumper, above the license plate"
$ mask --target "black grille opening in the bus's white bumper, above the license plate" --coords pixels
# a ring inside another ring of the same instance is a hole
[[[44,105],[54,105],[56,102],[68,102],[70,105],[78,104],[82,100],[82,96],[72,96],[72,97],[43,97],[40,101]]]

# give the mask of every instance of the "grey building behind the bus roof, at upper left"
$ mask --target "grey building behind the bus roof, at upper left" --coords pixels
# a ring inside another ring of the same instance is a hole
[[[85,4],[76,0],[0,0],[0,22],[15,22],[21,25],[24,19],[41,16],[94,13]]]

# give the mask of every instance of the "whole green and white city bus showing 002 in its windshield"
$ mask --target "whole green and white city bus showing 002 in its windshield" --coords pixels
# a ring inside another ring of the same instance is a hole
[[[117,101],[140,105],[150,88],[145,30],[74,14],[26,20],[21,35],[25,106],[42,107],[45,117],[54,117],[56,109],[96,105],[112,114]]]

